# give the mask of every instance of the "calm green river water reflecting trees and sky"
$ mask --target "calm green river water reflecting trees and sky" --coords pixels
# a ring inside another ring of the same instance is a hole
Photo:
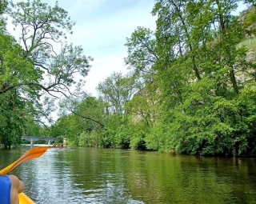
[[[0,149],[0,169],[29,149]],[[255,158],[50,148],[10,174],[37,204],[256,203]]]

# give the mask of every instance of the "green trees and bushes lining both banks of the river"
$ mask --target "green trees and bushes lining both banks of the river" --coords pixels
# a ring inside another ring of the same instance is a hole
[[[1,14],[14,19],[21,40],[2,17],[0,143],[39,135],[74,146],[256,154],[253,2],[155,1],[156,30],[134,28],[126,39],[130,72],[114,72],[92,97],[82,91],[92,58],[62,41],[74,26],[66,10],[2,1]],[[249,9],[235,15],[242,4]]]

